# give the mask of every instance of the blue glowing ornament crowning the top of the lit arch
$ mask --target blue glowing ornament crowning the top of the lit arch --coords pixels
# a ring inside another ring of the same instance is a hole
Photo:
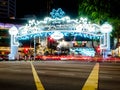
[[[65,12],[61,8],[58,8],[57,10],[53,9],[52,12],[50,12],[50,15],[54,19],[62,18],[65,16]]]

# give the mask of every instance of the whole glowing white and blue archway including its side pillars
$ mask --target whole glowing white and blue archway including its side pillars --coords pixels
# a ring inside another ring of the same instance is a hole
[[[64,16],[65,13],[60,8],[58,10],[53,9],[50,15],[51,17],[46,17],[44,20],[30,20],[25,26],[18,28],[16,34],[13,34],[12,32],[10,33],[10,59],[15,58],[16,54],[12,53],[14,50],[12,47],[18,47],[19,40],[47,37],[50,35],[57,39],[62,38],[63,36],[68,36],[69,34],[89,39],[99,39],[101,49],[110,49],[109,33],[111,32],[112,27],[108,23],[100,26],[91,23],[87,18],[81,17],[79,19],[71,19],[68,16]],[[17,43],[17,45],[15,43]]]

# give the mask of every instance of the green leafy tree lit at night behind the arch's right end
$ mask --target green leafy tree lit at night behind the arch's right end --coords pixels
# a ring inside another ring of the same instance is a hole
[[[88,17],[97,24],[110,22],[113,26],[111,36],[119,41],[120,11],[117,11],[119,6],[119,0],[79,0],[78,15]]]

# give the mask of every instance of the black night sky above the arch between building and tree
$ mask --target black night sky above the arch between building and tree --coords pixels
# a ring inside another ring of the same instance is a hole
[[[49,2],[48,2],[49,1]],[[49,16],[52,9],[62,8],[71,18],[78,14],[78,0],[16,0],[16,17],[35,15],[38,18]]]

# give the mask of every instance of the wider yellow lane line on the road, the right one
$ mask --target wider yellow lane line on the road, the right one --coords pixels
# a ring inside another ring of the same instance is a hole
[[[97,90],[98,89],[98,74],[99,63],[96,63],[82,90]]]

